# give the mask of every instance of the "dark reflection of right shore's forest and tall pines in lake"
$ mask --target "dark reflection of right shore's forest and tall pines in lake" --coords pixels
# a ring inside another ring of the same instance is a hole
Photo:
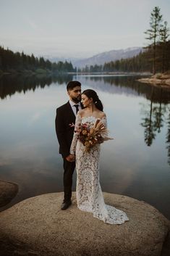
[[[127,94],[138,94],[145,96],[148,99],[146,104],[141,104],[142,122],[140,125],[144,129],[144,140],[147,146],[153,144],[153,140],[156,139],[156,135],[161,133],[161,129],[166,123],[168,124],[168,131],[166,135],[166,144],[168,149],[168,162],[170,165],[170,114],[169,102],[170,102],[170,90],[166,88],[158,88],[156,86],[150,86],[145,83],[137,81],[137,76],[134,75],[118,75],[118,76],[87,76],[86,82],[95,81],[101,87],[103,91],[111,92],[111,86],[119,88],[116,93],[121,93],[122,88]],[[115,90],[115,89],[114,89]],[[115,91],[113,91],[115,93]]]

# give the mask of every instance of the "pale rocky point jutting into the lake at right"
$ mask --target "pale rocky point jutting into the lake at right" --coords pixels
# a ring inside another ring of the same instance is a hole
[[[150,78],[140,78],[138,81],[141,83],[149,83],[156,87],[170,88],[170,74],[166,73],[152,75]]]

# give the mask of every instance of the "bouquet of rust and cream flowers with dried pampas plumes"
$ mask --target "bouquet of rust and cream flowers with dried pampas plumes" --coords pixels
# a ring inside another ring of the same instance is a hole
[[[93,127],[91,127],[89,122],[81,123],[76,128],[75,133],[77,133],[78,139],[85,146],[86,152],[90,152],[90,148],[95,146],[95,144],[101,144],[111,139],[107,136],[108,131],[104,128],[101,120],[96,120]]]

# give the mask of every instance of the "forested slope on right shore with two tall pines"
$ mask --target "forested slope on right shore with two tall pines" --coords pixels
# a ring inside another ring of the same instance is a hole
[[[150,28],[145,31],[150,44],[135,57],[119,59],[103,66],[86,66],[79,72],[156,72],[170,70],[170,41],[167,22],[162,25],[161,9],[154,7],[150,16]]]

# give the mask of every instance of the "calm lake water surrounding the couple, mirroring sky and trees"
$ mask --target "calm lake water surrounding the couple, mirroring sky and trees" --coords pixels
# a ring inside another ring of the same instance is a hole
[[[113,141],[102,144],[103,191],[155,206],[170,218],[170,92],[134,76],[4,77],[0,80],[0,180],[19,184],[8,205],[62,191],[62,160],[54,119],[67,102],[66,84],[98,92]],[[75,190],[76,172],[73,190]],[[2,208],[4,209],[4,208]]]

